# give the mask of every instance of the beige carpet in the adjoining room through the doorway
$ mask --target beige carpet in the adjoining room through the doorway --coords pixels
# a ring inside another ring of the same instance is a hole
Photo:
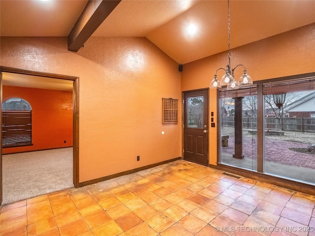
[[[2,205],[73,187],[72,148],[2,155]]]

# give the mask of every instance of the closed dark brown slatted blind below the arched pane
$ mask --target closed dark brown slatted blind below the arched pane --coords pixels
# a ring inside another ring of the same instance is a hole
[[[32,111],[2,111],[2,147],[32,145]]]

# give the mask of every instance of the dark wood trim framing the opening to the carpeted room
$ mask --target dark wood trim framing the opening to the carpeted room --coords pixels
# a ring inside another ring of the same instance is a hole
[[[46,72],[30,71],[19,68],[0,66],[0,73],[8,72],[24,75],[35,75],[53,79],[73,81],[73,184],[78,188],[79,183],[79,77]],[[0,78],[0,102],[2,104],[2,73]],[[2,123],[2,109],[0,111],[0,122]],[[0,129],[2,133],[2,127]],[[1,139],[0,139],[1,140]],[[2,141],[2,140],[1,140]],[[0,206],[2,202],[2,142],[0,142]]]

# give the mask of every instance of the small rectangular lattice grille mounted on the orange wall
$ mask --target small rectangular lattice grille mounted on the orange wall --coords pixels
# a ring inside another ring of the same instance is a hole
[[[178,99],[162,98],[163,102],[163,124],[178,123]]]

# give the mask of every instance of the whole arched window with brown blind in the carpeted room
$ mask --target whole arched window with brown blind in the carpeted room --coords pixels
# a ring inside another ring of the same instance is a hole
[[[2,147],[32,145],[32,107],[18,97],[2,103]]]

